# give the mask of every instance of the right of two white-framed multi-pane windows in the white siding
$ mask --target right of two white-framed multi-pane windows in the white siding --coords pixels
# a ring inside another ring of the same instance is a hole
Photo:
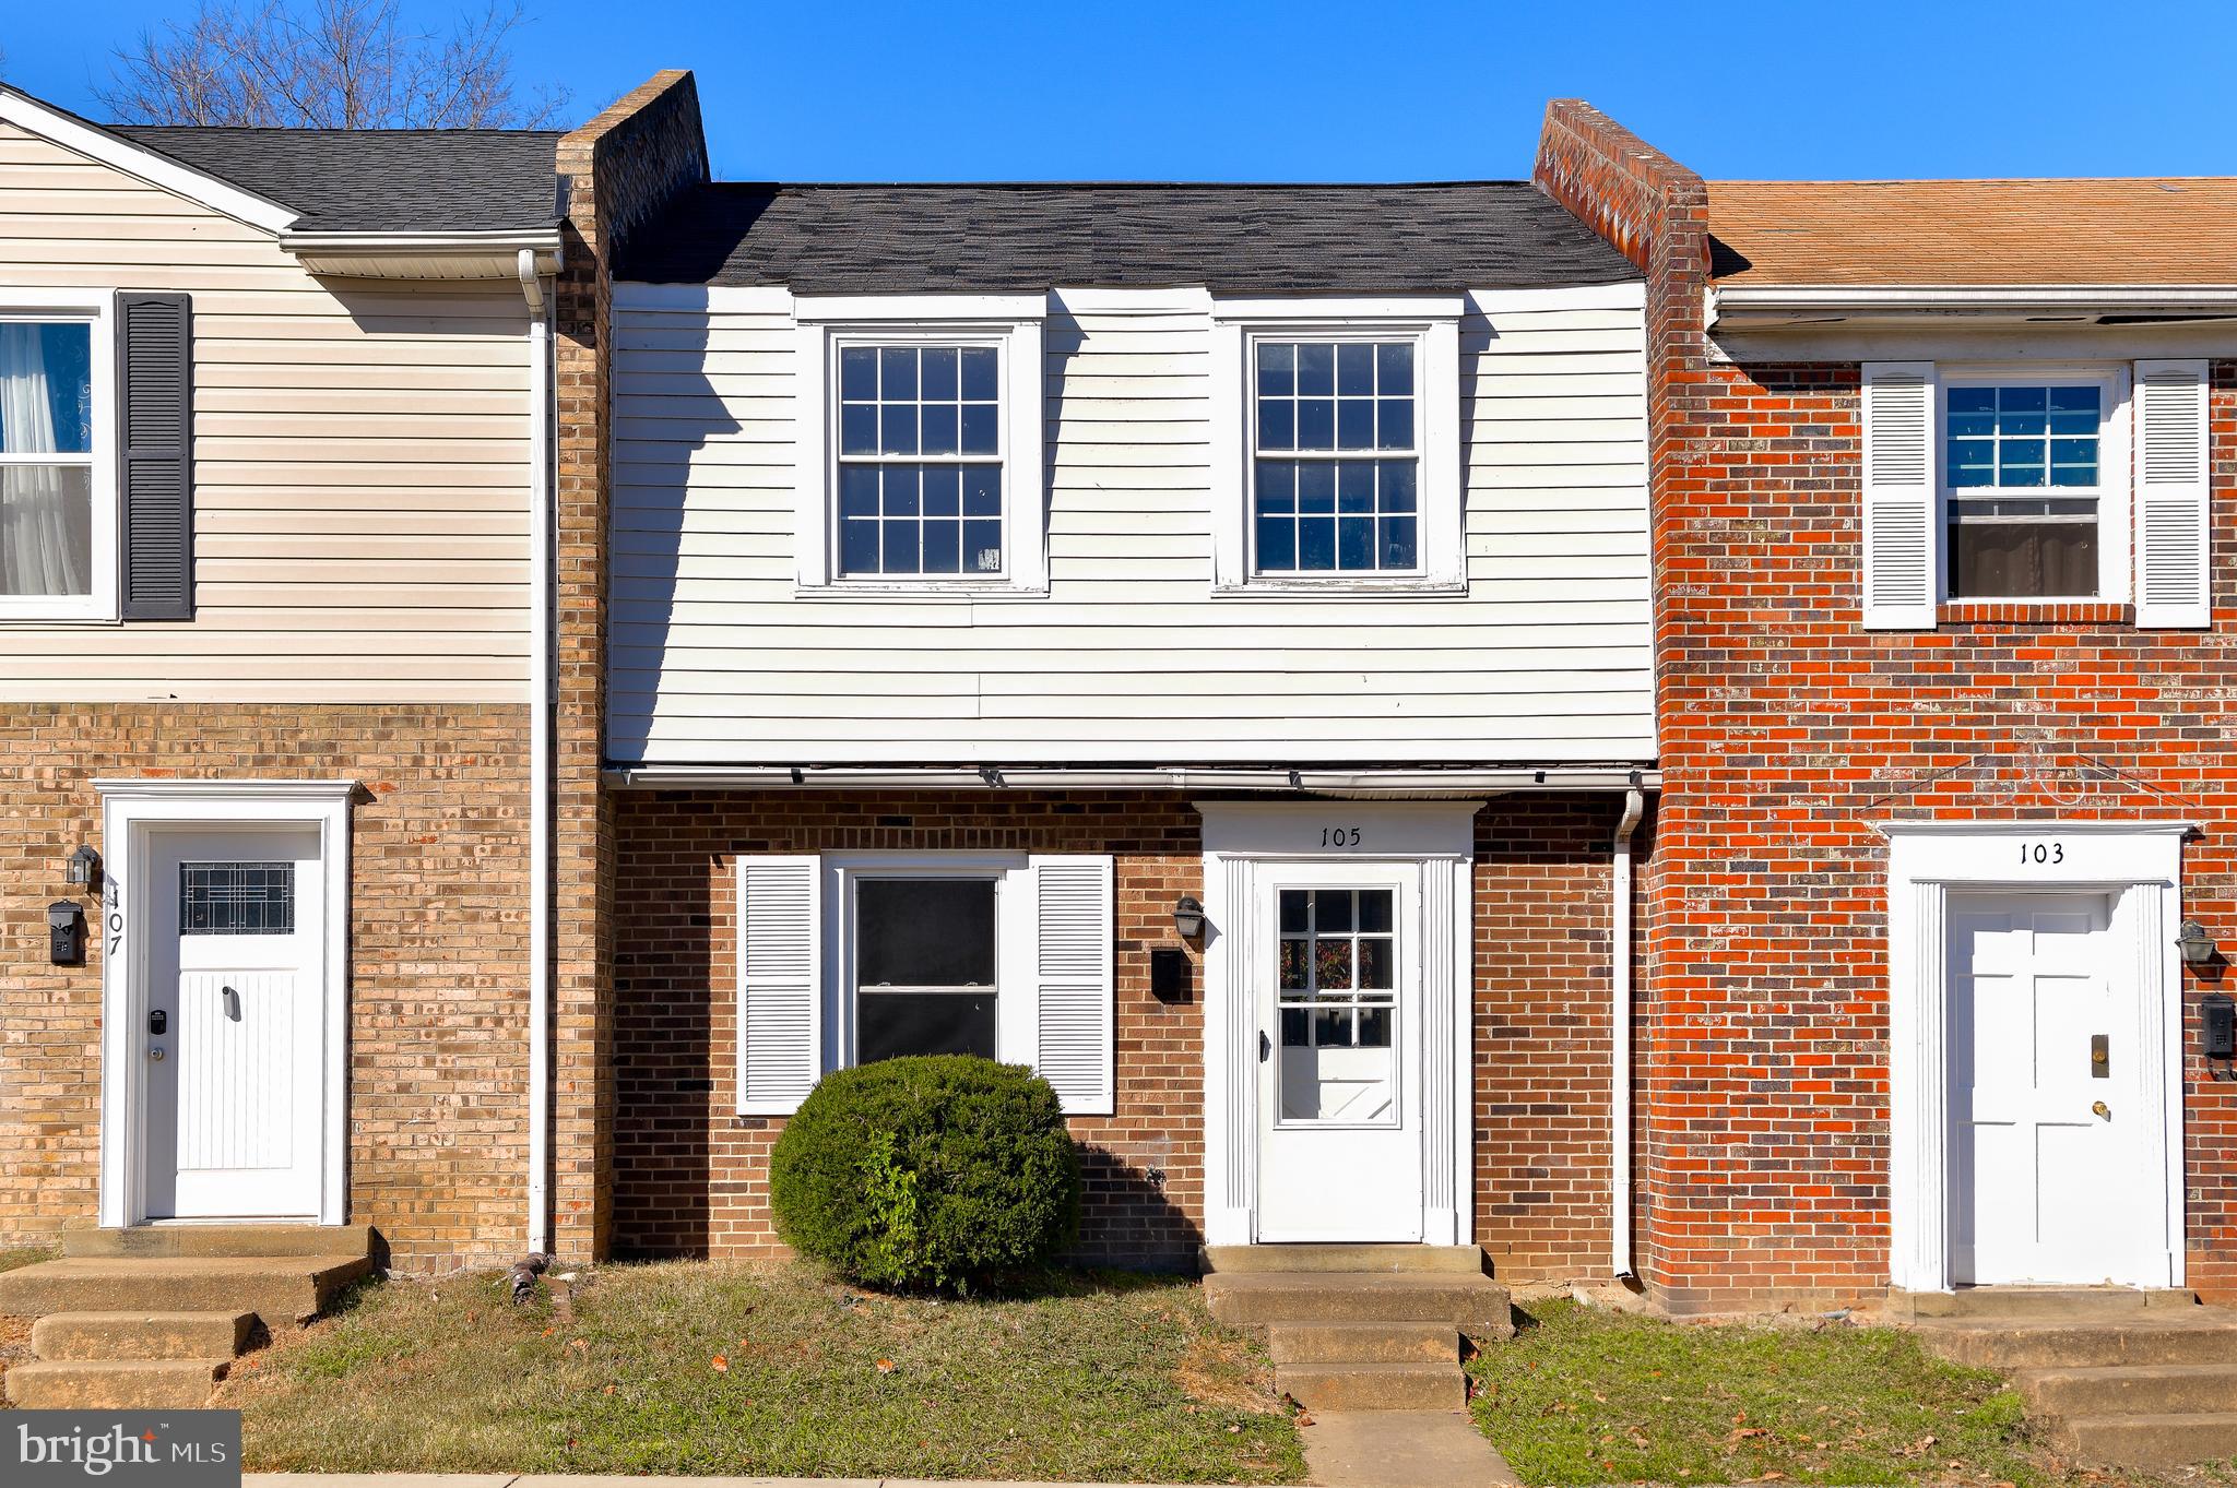
[[[1215,594],[1467,588],[1461,308],[1215,302]]]

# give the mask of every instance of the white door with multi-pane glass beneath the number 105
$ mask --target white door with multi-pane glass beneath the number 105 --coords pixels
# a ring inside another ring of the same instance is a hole
[[[1420,1240],[1420,867],[1259,865],[1259,1240]]]

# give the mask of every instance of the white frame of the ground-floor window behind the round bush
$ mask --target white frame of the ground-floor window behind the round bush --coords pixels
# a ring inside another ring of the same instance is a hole
[[[1002,1063],[1033,1063],[1038,999],[1027,853],[823,853],[823,1072],[855,1066],[855,889],[866,878],[993,883],[993,1039]]]

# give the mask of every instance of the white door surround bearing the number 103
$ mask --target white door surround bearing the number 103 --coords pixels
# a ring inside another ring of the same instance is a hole
[[[2190,822],[1881,822],[1888,838],[1888,1280],[1951,1289],[1946,918],[1953,889],[2139,894],[2136,985],[2148,1173],[2163,1184],[2165,1278],[2183,1285],[2183,840]],[[2038,853],[2040,847],[2040,853]],[[2040,860],[2038,860],[2040,856]],[[2152,990],[2159,996],[2152,996]]]

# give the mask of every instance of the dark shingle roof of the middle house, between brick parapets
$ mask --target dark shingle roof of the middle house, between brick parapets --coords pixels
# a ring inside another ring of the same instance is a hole
[[[1054,286],[1452,293],[1637,279],[1523,181],[1436,185],[749,185],[682,197],[622,279],[805,295]]]

